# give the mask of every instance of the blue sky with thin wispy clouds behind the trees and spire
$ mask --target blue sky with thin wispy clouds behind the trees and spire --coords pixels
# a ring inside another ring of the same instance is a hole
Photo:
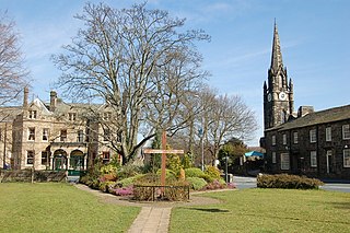
[[[100,1],[90,1],[100,2]],[[128,8],[130,0],[104,1]],[[262,83],[270,66],[277,20],[283,63],[294,82],[295,108],[316,110],[350,104],[350,1],[348,0],[149,0],[149,8],[186,18],[188,28],[202,28],[210,43],[198,45],[209,83],[221,94],[241,95],[256,113],[262,136]],[[32,96],[47,101],[59,77],[49,57],[77,34],[80,0],[0,0],[0,10],[16,22],[22,50],[34,80]],[[58,94],[59,94],[59,90]],[[296,109],[295,109],[296,110]]]

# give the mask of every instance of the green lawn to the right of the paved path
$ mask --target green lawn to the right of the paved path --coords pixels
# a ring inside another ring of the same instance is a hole
[[[350,194],[245,189],[206,194],[220,205],[174,208],[176,232],[350,232]]]

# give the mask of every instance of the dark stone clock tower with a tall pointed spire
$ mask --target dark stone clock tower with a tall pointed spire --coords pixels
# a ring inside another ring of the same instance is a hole
[[[283,67],[280,39],[275,22],[271,66],[264,82],[264,128],[285,123],[294,112],[293,83]]]

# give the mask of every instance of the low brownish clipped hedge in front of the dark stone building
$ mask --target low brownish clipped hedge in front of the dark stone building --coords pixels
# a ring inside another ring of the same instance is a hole
[[[324,183],[319,179],[298,175],[278,174],[257,177],[259,188],[318,189]]]

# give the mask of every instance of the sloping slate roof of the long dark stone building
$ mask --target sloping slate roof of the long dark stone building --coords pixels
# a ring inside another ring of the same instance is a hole
[[[335,123],[335,121],[345,120],[345,119],[350,119],[350,105],[314,112],[314,113],[307,114],[306,116],[284,123],[280,126],[267,129],[266,131],[272,131],[272,130],[283,131],[289,129],[296,129],[296,128],[303,128],[307,126],[326,124],[326,123]]]

